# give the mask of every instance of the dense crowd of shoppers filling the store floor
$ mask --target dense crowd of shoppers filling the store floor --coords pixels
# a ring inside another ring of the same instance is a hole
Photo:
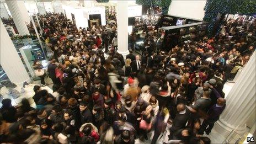
[[[151,41],[152,50],[129,50],[125,60],[116,51],[115,26],[77,29],[63,14],[39,20],[54,52],[47,67],[54,93],[35,86],[36,109],[26,99],[20,108],[4,99],[0,142],[143,143],[153,130],[157,143],[170,124],[169,142],[210,143],[204,132],[225,109],[223,85],[255,50],[255,26],[228,22],[224,35],[170,51],[155,52]]]

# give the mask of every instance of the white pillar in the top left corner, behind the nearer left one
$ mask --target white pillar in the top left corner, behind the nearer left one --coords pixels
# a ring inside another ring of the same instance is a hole
[[[13,21],[20,35],[29,35],[26,24],[30,23],[28,10],[26,10],[23,1],[6,1],[6,4],[12,14]]]

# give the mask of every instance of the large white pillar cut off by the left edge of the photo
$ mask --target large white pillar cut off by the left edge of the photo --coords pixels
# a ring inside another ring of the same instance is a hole
[[[3,70],[6,72],[8,78],[11,82],[15,84],[22,84],[23,82],[30,82],[28,72],[20,59],[17,50],[15,49],[10,36],[7,33],[6,28],[1,22],[1,56],[0,63],[3,67]]]

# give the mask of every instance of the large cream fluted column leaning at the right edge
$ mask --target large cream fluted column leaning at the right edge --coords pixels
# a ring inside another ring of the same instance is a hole
[[[250,118],[250,115],[255,114],[255,60],[254,51],[249,62],[243,68],[241,76],[238,77],[226,97],[226,109],[221,114],[220,120],[214,126],[214,130],[221,134],[219,138],[225,140],[232,130],[239,135],[244,135],[246,132],[246,122]]]

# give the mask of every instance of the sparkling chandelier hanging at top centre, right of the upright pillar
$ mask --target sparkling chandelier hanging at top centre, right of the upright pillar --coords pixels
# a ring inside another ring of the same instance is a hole
[[[147,10],[146,15],[142,15],[142,22],[146,25],[156,25],[160,16],[154,13],[153,0],[151,0],[150,9]]]

